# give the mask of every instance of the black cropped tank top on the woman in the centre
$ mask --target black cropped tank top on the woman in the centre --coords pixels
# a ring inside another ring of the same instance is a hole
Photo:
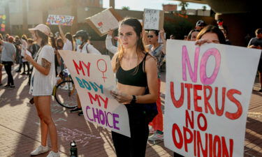
[[[147,87],[147,74],[145,73],[145,59],[147,58],[147,53],[141,63],[138,64],[138,71],[135,73],[136,67],[130,70],[122,69],[121,65],[119,66],[116,77],[117,81],[120,84],[126,84],[130,86],[137,87]]]

